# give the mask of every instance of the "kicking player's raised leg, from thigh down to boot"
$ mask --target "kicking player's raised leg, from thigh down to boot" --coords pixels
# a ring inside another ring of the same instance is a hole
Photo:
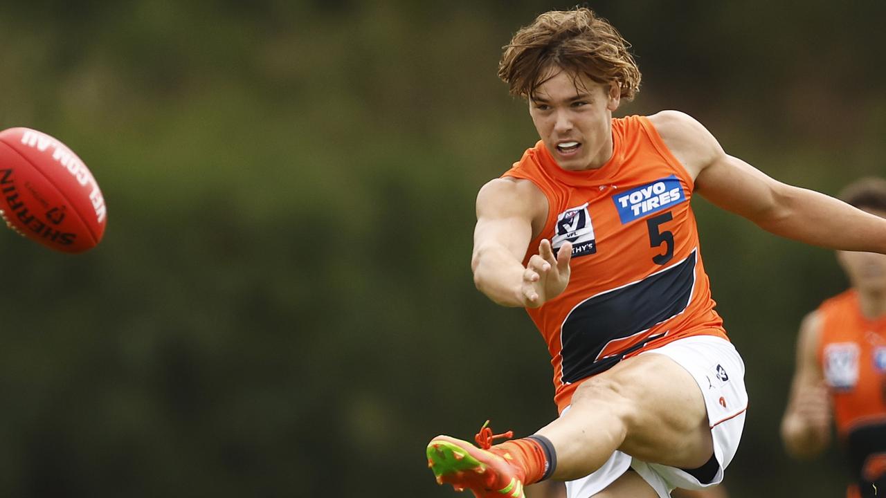
[[[478,437],[478,444],[483,449],[447,436],[431,440],[428,463],[438,482],[519,498],[522,486],[542,478],[584,477],[617,449],[688,469],[713,451],[696,380],[661,354],[641,354],[588,379],[571,409],[529,438],[490,447]]]

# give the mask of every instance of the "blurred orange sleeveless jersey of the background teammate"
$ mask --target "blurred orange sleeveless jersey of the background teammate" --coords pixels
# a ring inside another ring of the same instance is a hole
[[[886,490],[886,315],[861,314],[849,290],[824,301],[818,357],[830,388],[834,421],[848,456],[849,496]]]

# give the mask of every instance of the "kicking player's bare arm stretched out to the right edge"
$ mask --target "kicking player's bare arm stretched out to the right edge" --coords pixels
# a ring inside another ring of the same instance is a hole
[[[843,201],[778,182],[723,151],[716,138],[685,113],[650,116],[664,143],[713,204],[764,230],[830,249],[886,253],[886,220]]]

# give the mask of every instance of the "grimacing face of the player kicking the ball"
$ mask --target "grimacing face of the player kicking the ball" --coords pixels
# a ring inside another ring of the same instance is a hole
[[[563,169],[602,167],[612,156],[618,89],[560,68],[550,74],[529,99],[529,114],[542,142]]]

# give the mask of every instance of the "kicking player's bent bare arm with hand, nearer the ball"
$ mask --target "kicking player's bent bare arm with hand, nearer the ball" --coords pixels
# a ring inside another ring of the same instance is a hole
[[[532,182],[500,178],[477,196],[477,226],[471,269],[477,288],[502,306],[539,307],[569,283],[571,246],[559,257],[550,241],[523,266],[529,242],[548,215],[548,199]]]

